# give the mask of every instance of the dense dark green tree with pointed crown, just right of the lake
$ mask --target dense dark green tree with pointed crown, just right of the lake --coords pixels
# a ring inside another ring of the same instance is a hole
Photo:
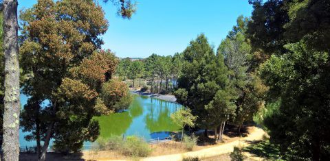
[[[190,42],[183,56],[185,62],[175,97],[179,103],[187,106],[192,114],[198,116],[199,127],[217,127],[219,124],[210,122],[210,115],[217,113],[206,106],[214,100],[217,91],[228,86],[228,70],[223,62],[223,55],[215,55],[206,36],[201,34]]]

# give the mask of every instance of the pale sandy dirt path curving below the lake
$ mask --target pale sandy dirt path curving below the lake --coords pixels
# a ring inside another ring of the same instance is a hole
[[[265,132],[263,129],[259,127],[254,127],[254,130],[252,131],[251,134],[249,134],[245,138],[241,138],[240,140],[236,140],[230,143],[225,143],[223,145],[219,145],[217,147],[210,147],[206,149],[201,149],[198,151],[190,151],[186,153],[177,153],[177,154],[170,154],[170,155],[165,155],[165,156],[155,156],[155,157],[149,157],[149,158],[141,158],[141,160],[144,161],[176,161],[176,160],[182,160],[183,158],[187,157],[199,157],[199,158],[210,158],[213,156],[219,156],[224,153],[230,153],[234,150],[235,146],[241,146],[245,147],[248,146],[249,143],[248,141],[253,141],[253,140],[261,140],[263,138],[263,135]]]

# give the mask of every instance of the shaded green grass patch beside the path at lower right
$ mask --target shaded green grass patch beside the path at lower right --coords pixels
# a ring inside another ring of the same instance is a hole
[[[253,141],[250,146],[243,148],[243,151],[266,160],[278,160],[280,158],[278,145],[273,145],[269,140]]]

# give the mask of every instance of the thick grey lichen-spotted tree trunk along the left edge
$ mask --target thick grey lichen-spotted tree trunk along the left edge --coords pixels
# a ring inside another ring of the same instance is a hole
[[[3,112],[3,159],[19,160],[19,44],[17,0],[3,1],[3,49],[5,97]]]

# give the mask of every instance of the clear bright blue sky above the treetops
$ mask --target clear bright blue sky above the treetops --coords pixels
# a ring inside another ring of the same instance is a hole
[[[19,0],[19,10],[34,3],[36,0]],[[236,18],[252,12],[248,0],[137,0],[137,12],[127,20],[115,14],[111,3],[100,5],[109,21],[102,48],[120,58],[173,55],[184,51],[201,33],[217,48]]]

